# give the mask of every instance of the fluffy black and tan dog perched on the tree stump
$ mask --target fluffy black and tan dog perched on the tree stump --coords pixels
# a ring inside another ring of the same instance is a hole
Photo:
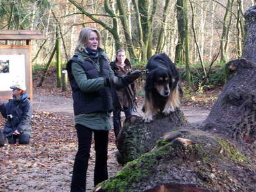
[[[162,112],[165,115],[179,108],[179,73],[171,59],[165,54],[153,55],[146,65],[144,121],[150,122],[153,116]]]

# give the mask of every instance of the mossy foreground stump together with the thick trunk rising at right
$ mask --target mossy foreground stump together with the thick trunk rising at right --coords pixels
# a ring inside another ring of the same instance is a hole
[[[227,63],[232,75],[203,124],[177,126],[94,191],[255,191],[256,6],[245,18],[244,58]]]

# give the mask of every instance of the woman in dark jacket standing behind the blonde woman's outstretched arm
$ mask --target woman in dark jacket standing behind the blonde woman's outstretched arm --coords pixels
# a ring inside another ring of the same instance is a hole
[[[115,61],[110,63],[115,76],[121,77],[127,73],[131,73],[131,62],[126,58],[125,50],[118,49]],[[131,83],[125,88],[121,88],[116,91],[117,98],[114,101],[113,110],[113,129],[115,132],[115,138],[121,129],[121,111],[125,113],[125,117],[132,115],[133,104],[136,100],[136,87],[135,83]]]

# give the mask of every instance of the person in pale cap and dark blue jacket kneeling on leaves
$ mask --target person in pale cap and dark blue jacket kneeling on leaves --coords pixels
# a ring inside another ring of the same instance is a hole
[[[10,87],[13,90],[13,100],[3,104],[0,100],[0,112],[7,122],[3,134],[10,144],[28,144],[31,134],[32,104],[26,94],[26,86],[16,84]]]

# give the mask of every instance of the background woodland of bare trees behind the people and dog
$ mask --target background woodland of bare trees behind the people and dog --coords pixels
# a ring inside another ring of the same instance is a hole
[[[45,65],[67,63],[80,30],[97,28],[110,60],[125,48],[134,66],[143,68],[154,53],[165,52],[191,88],[199,89],[223,84],[224,63],[241,57],[244,12],[252,5],[253,0],[0,0],[0,30],[42,32],[46,40],[33,42],[32,63]]]

